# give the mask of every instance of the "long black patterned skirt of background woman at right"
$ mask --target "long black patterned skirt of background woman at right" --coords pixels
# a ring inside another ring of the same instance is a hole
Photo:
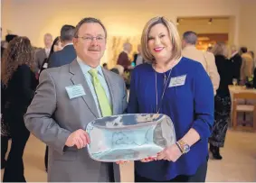
[[[213,133],[209,142],[215,147],[223,147],[230,123],[231,97],[216,95],[214,102]]]

